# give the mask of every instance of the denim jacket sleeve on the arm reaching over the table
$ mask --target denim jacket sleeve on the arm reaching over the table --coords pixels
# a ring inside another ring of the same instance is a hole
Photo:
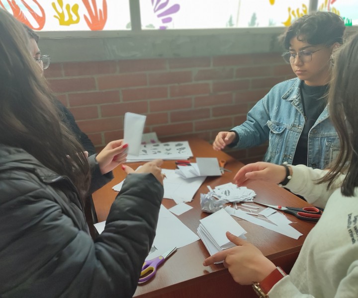
[[[267,122],[270,120],[267,107],[268,95],[261,99],[247,114],[247,120],[231,129],[237,137],[231,147],[244,149],[259,146],[269,139]]]

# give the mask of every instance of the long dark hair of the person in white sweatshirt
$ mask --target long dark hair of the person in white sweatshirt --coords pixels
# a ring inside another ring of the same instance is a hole
[[[342,194],[353,196],[358,186],[358,34],[333,56],[334,68],[328,95],[329,115],[341,141],[337,160],[319,183],[330,187],[340,173],[346,173]]]

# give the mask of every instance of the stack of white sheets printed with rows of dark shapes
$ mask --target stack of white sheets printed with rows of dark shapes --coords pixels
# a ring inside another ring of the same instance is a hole
[[[142,144],[138,155],[127,155],[127,162],[149,161],[157,158],[188,159],[192,156],[193,154],[187,141]]]

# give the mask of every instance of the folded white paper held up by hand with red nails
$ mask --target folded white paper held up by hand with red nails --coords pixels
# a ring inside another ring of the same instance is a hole
[[[130,155],[139,154],[146,118],[147,116],[130,112],[124,114],[124,143],[128,144]]]

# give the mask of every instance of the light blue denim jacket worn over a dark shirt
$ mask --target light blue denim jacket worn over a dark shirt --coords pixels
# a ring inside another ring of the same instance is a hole
[[[273,86],[248,113],[247,120],[233,128],[238,149],[258,146],[269,140],[264,160],[292,164],[305,124],[300,93],[301,80],[289,79]],[[307,166],[324,169],[340,151],[338,134],[328,118],[326,106],[308,136]]]

